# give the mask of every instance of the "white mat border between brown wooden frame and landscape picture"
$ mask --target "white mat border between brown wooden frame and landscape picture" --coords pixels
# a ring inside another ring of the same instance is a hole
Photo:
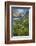
[[[11,7],[30,7],[29,10],[29,36],[11,37]],[[10,5],[10,40],[31,40],[32,39],[32,6],[27,5]]]

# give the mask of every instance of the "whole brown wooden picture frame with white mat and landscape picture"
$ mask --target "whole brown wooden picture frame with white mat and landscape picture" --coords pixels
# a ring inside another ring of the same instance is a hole
[[[5,2],[5,44],[35,42],[35,3]]]

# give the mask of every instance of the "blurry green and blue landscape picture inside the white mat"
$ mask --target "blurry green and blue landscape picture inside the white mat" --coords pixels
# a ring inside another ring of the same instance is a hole
[[[13,36],[28,36],[29,35],[29,8],[26,7],[11,7],[12,22],[11,33]]]

